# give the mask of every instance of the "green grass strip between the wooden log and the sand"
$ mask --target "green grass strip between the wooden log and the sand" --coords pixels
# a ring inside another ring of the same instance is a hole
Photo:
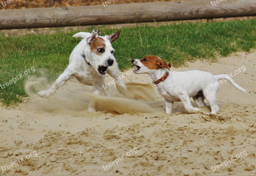
[[[89,29],[91,32],[93,27]],[[119,29],[99,28],[101,34]],[[42,35],[0,34],[0,84],[11,80],[34,66],[44,68],[54,80],[68,65],[68,58],[80,39],[72,38],[77,31]],[[87,31],[88,32],[88,31]],[[255,48],[256,20],[193,23],[168,26],[140,26],[122,29],[120,38],[113,42],[115,56],[121,70],[132,67],[131,60],[157,55],[172,65],[182,65],[197,58],[214,60],[235,51],[249,52]],[[31,75],[30,73],[29,75]],[[0,101],[4,105],[26,100],[26,77],[7,88],[0,87]]]

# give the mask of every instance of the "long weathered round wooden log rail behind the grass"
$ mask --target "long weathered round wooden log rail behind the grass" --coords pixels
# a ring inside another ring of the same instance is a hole
[[[215,1],[216,2],[216,1]],[[193,0],[0,10],[0,29],[256,16],[256,0]]]

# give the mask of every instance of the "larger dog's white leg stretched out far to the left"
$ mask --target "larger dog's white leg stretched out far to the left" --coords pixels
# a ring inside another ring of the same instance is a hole
[[[48,98],[49,96],[53,95],[61,86],[63,86],[70,78],[72,78],[72,74],[70,74],[68,69],[66,69],[50,88],[38,92],[38,96]]]

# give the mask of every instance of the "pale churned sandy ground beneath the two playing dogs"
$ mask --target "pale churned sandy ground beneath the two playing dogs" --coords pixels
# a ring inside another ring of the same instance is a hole
[[[109,88],[113,98],[94,97],[92,87],[73,79],[49,99],[35,97],[1,109],[0,166],[27,157],[11,164],[7,176],[255,175],[255,57],[256,52],[236,53],[216,63],[198,60],[171,69],[235,75],[249,94],[221,84],[216,116],[209,107],[188,114],[182,103],[174,103],[172,114],[166,114],[149,76],[129,72],[124,73],[125,97],[115,85]],[[246,71],[239,72],[242,66]],[[98,113],[87,112],[91,100]],[[216,167],[224,161],[227,166]]]

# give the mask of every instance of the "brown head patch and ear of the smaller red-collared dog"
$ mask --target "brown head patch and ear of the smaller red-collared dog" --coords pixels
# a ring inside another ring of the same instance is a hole
[[[140,59],[140,62],[151,70],[158,70],[159,68],[167,68],[170,70],[167,63],[157,56],[146,56],[143,59]]]

